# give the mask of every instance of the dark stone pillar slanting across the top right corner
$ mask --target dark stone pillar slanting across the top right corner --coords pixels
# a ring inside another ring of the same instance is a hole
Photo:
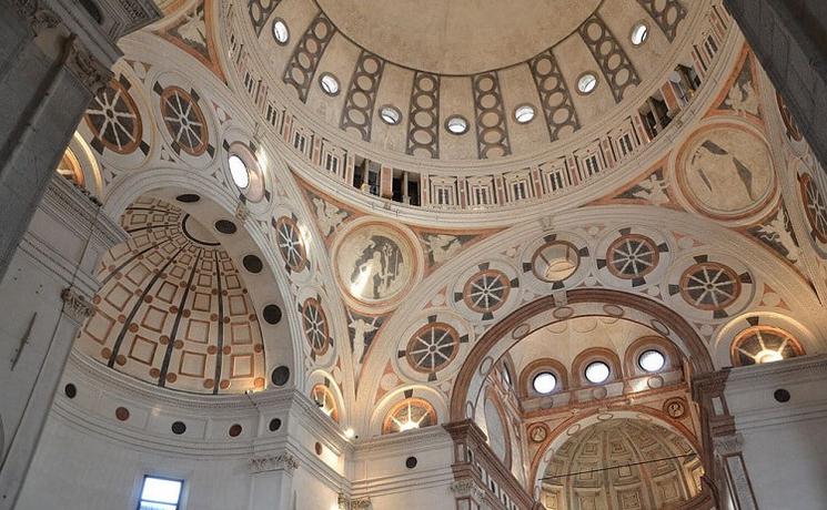
[[[724,0],[827,171],[827,2]]]

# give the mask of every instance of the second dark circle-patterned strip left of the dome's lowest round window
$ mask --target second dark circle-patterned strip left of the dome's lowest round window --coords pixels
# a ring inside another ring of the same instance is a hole
[[[356,70],[353,71],[351,88],[347,91],[347,99],[342,110],[340,128],[344,131],[355,130],[365,142],[371,141],[373,106],[384,69],[384,60],[362,51],[356,62]]]

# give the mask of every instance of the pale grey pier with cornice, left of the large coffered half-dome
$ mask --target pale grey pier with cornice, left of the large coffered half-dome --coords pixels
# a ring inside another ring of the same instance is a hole
[[[0,509],[14,507],[79,328],[102,254],[127,234],[53,174],[0,282]]]

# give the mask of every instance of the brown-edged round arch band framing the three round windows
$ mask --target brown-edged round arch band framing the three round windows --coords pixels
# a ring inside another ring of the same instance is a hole
[[[559,320],[562,316],[559,310],[566,310],[565,318],[572,317],[575,313],[573,305],[602,304],[604,314],[634,316],[638,320],[648,318],[649,327],[657,328],[664,336],[680,340],[694,371],[705,374],[715,369],[700,336],[689,323],[663,304],[635,294],[597,288],[569,290],[566,297],[565,307],[557,307],[554,296],[551,295],[536,299],[495,324],[477,340],[468,353],[454,384],[450,407],[452,421],[473,417],[473,402],[478,398],[482,380],[496,361],[492,356],[495,347],[498,350],[495,356],[498,358],[502,353],[507,351],[511,346],[533,330]],[[470,395],[472,392],[473,396]]]

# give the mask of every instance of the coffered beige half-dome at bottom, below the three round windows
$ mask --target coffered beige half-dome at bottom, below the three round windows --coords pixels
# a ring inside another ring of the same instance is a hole
[[[609,468],[609,469],[606,469]],[[571,436],[543,479],[546,508],[672,508],[700,491],[692,445],[643,419],[609,419]]]

